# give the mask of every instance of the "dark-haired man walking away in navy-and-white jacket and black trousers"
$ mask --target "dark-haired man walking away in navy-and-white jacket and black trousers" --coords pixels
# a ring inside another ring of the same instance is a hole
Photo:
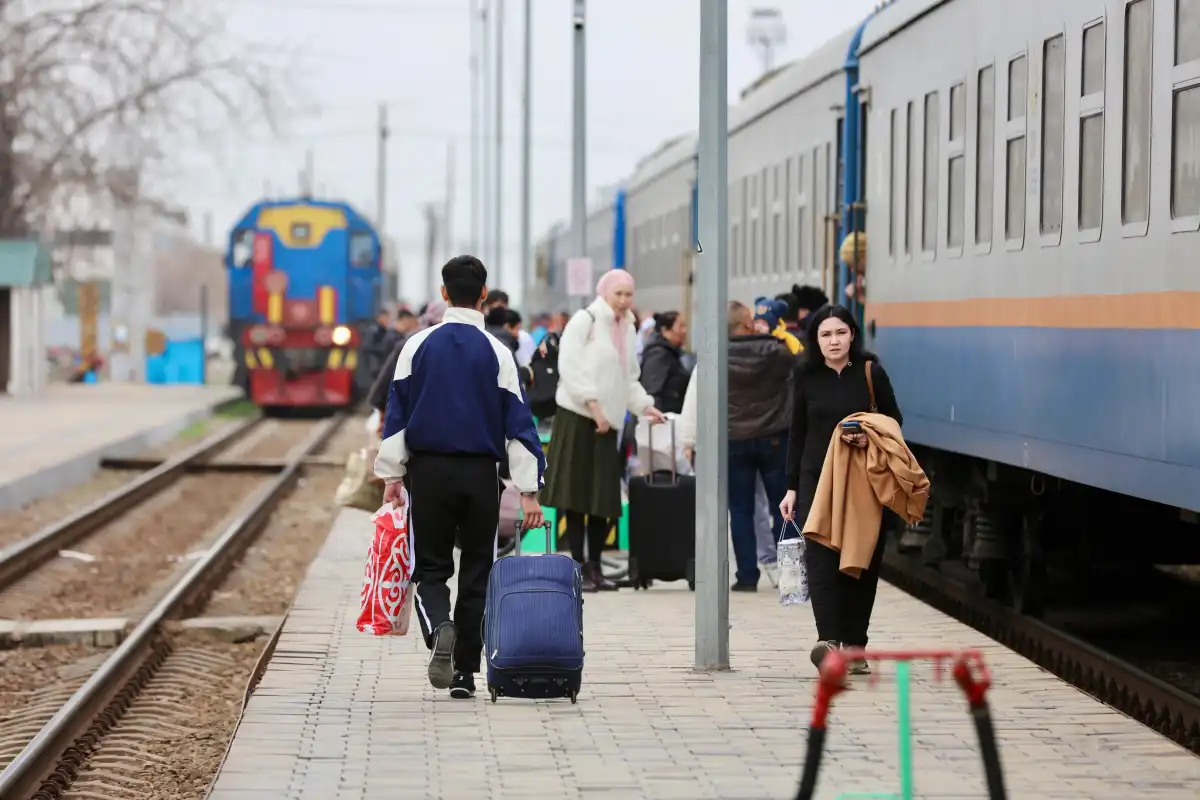
[[[542,524],[538,491],[546,458],[521,391],[512,351],[484,331],[487,270],[473,255],[442,267],[443,323],[409,337],[396,362],[376,474],[398,503],[413,500],[416,615],[434,688],[475,694],[487,577],[500,517],[499,462],[521,493],[526,529]],[[451,621],[455,530],[462,555]]]

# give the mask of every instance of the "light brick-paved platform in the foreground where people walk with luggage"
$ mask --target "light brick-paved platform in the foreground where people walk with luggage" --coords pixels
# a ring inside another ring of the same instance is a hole
[[[808,607],[731,597],[734,670],[696,674],[683,584],[589,595],[578,705],[452,700],[425,679],[420,637],[354,630],[368,516],[340,515],[300,588],[210,800],[796,796],[815,684]],[[978,646],[1008,796],[1200,796],[1200,759],[898,589],[878,646]],[[414,621],[415,630],[415,621]],[[961,694],[913,668],[920,798],[986,796]],[[832,717],[820,798],[898,792],[893,684],[854,679]]]

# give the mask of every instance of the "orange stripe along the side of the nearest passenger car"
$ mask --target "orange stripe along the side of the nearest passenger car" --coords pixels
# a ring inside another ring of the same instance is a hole
[[[1200,291],[1067,297],[973,297],[920,302],[868,299],[866,319],[888,327],[1200,329]]]

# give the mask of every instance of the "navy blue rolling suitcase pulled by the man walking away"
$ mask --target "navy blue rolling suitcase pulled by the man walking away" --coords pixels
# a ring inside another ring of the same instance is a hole
[[[583,685],[583,578],[569,555],[516,554],[492,565],[484,610],[487,688],[499,697],[575,703]],[[553,542],[546,524],[547,549]]]

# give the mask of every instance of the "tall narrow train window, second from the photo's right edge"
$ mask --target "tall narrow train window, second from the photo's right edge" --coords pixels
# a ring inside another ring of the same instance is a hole
[[[1154,64],[1152,0],[1134,0],[1126,6],[1124,54],[1121,218],[1126,224],[1138,224],[1150,218],[1150,97]]]

